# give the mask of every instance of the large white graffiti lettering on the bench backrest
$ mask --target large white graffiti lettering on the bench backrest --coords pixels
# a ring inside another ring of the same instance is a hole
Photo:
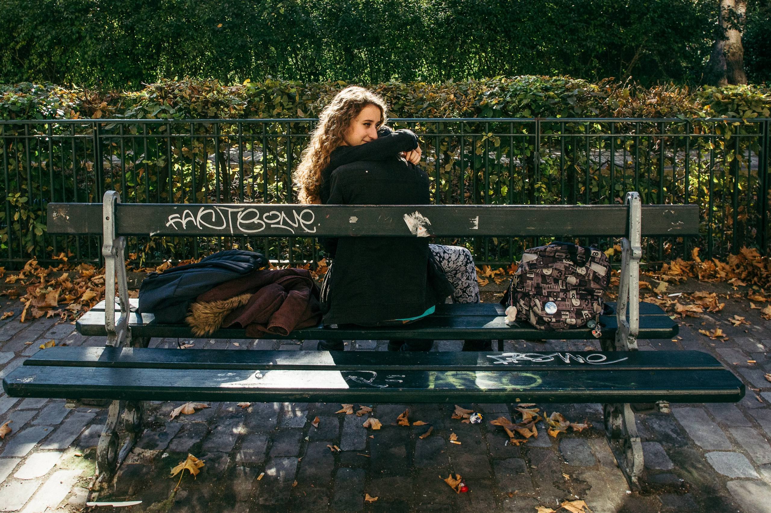
[[[185,210],[180,214],[171,214],[167,220],[167,226],[174,229],[187,229],[187,224],[193,224],[199,230],[210,228],[213,230],[229,231],[234,233],[258,233],[266,227],[283,228],[291,234],[295,230],[304,233],[315,233],[316,228],[311,226],[315,220],[313,211],[305,208],[301,211],[259,211],[254,207],[201,207],[197,214]],[[157,233],[157,232],[156,232]]]

